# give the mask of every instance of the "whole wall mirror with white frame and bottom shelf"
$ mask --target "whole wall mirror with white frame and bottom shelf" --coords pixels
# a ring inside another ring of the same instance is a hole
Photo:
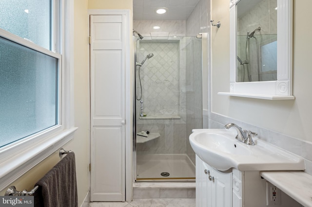
[[[292,0],[230,0],[230,92],[292,96]]]

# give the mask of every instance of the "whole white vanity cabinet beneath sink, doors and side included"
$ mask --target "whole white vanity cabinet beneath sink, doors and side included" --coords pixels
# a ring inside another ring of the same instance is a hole
[[[211,177],[210,177],[211,176]],[[281,192],[282,207],[301,207]],[[259,171],[215,170],[196,155],[196,207],[275,207],[266,205],[266,180]]]

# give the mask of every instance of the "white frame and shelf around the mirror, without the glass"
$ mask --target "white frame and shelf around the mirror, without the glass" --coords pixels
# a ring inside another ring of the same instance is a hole
[[[239,1],[230,0],[230,92],[218,94],[268,100],[294,99],[292,0],[277,0],[277,81],[262,82],[236,82],[236,4]]]

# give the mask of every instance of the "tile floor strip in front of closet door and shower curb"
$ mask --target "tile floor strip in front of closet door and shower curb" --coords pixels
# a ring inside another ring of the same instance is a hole
[[[134,199],[132,202],[91,202],[89,207],[195,207],[195,199]]]

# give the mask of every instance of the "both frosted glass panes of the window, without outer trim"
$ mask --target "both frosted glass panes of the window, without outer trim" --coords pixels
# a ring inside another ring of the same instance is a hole
[[[58,11],[50,4],[0,1],[0,28],[34,43],[0,37],[0,147],[58,124],[60,55],[36,47],[51,49],[51,16]]]

